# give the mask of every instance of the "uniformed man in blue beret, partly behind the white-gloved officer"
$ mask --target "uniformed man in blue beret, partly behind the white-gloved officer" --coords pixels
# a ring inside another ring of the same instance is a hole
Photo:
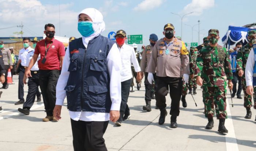
[[[145,47],[145,50],[143,50],[142,61],[141,61],[141,64],[140,64],[141,75],[143,76],[143,73],[145,73],[144,84],[145,84],[145,90],[146,90],[145,91],[146,106],[143,106],[143,110],[145,110],[147,112],[151,111],[151,99],[152,99],[151,96],[152,96],[152,93],[153,93],[152,92],[153,84],[150,84],[148,82],[148,80],[147,80],[148,72],[146,72],[146,71],[147,71],[147,68],[148,68],[149,61],[150,61],[151,56],[152,56],[153,47],[154,47],[155,43],[157,42],[157,40],[158,40],[158,37],[154,33],[152,33],[149,36],[150,44]]]

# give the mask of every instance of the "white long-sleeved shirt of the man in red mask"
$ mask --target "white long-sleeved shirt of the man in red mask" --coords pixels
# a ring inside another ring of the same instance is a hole
[[[120,50],[122,60],[121,82],[124,82],[132,78],[131,65],[133,64],[136,72],[140,71],[140,65],[133,47],[124,44],[121,48],[118,47],[118,49]]]

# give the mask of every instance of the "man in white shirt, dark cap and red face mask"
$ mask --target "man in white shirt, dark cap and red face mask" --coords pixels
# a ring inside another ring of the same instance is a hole
[[[123,120],[128,120],[131,117],[127,100],[129,96],[129,89],[131,86],[132,71],[131,64],[133,64],[135,71],[137,72],[136,80],[140,82],[140,66],[136,59],[134,48],[125,44],[126,32],[124,30],[118,30],[116,32],[116,43],[121,55],[122,70],[121,70],[121,106],[120,106],[120,118],[115,123],[117,126],[121,126]]]

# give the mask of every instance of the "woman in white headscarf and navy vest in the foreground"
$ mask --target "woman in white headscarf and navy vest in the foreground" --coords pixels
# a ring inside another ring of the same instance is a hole
[[[116,122],[121,103],[121,57],[116,43],[100,35],[102,14],[94,8],[78,15],[82,35],[69,44],[56,87],[54,117],[61,119],[67,96],[74,150],[106,151],[103,134]]]

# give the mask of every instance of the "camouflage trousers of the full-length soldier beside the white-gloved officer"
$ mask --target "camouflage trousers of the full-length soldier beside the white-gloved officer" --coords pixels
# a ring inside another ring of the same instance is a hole
[[[216,111],[217,119],[227,118],[226,112],[226,86],[219,87],[206,87],[203,86],[203,98],[204,98],[204,109],[205,117],[214,117],[214,106]]]

